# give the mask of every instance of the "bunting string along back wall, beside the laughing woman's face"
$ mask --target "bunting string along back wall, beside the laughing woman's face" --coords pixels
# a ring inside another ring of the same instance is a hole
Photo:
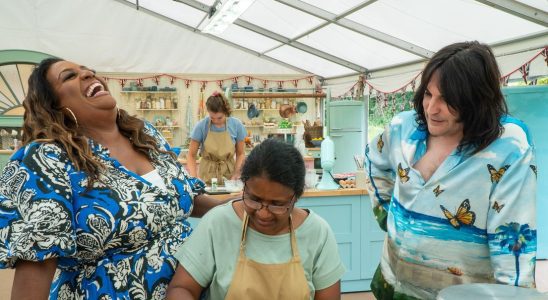
[[[197,82],[197,83],[200,84],[201,89],[205,89],[206,86],[210,83],[214,83],[217,86],[219,86],[219,88],[222,88],[223,84],[225,82],[230,82],[230,83],[236,83],[237,84],[240,80],[243,80],[245,83],[247,83],[247,85],[250,85],[251,81],[257,80],[257,81],[260,81],[263,84],[264,88],[266,88],[269,84],[272,84],[272,85],[275,84],[279,88],[283,88],[284,86],[286,86],[286,84],[291,84],[292,86],[297,87],[298,83],[302,80],[306,80],[309,84],[312,84],[312,82],[314,80],[314,76],[306,76],[306,77],[302,77],[302,78],[286,79],[286,80],[271,80],[271,79],[264,79],[264,78],[254,77],[254,76],[250,76],[250,75],[239,75],[239,76],[236,76],[236,77],[222,78],[222,79],[197,80],[197,79],[189,79],[189,78],[184,78],[184,77],[179,77],[179,76],[174,76],[174,75],[169,75],[169,74],[158,74],[158,75],[152,75],[152,76],[140,77],[140,78],[121,78],[121,77],[107,77],[107,76],[105,76],[105,77],[103,77],[103,79],[105,81],[117,80],[118,83],[120,84],[120,86],[123,88],[123,87],[126,86],[126,84],[128,82],[135,82],[137,84],[137,86],[143,86],[143,81],[147,80],[147,79],[150,79],[150,80],[154,81],[154,83],[156,83],[156,85],[158,85],[160,83],[160,79],[162,77],[167,77],[169,79],[169,83],[171,85],[173,85],[175,83],[175,80],[182,80],[184,82],[186,88],[189,88],[190,85],[193,82]]]

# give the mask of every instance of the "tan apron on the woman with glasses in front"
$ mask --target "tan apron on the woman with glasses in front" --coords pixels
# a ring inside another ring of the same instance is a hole
[[[240,255],[225,299],[309,300],[310,289],[301,265],[291,217],[289,218],[289,228],[292,257],[289,262],[281,264],[261,264],[245,256],[248,222],[249,216],[244,211]]]

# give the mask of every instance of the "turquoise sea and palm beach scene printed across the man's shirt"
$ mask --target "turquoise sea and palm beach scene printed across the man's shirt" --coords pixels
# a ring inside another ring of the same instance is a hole
[[[534,260],[531,254],[535,249],[536,230],[528,224],[510,222],[499,226],[494,234],[488,234],[484,229],[474,226],[475,213],[471,210],[470,200],[464,200],[455,213],[443,207],[440,217],[424,215],[407,210],[399,201],[392,198],[390,211],[399,218],[394,218],[395,231],[389,234],[399,246],[400,257],[411,264],[426,265],[441,272],[456,276],[489,276],[490,261],[485,243],[489,243],[511,268],[509,274],[519,281],[519,264],[523,263],[520,256],[527,261]],[[407,221],[405,221],[407,220]],[[414,247],[406,247],[414,245]],[[451,261],[451,253],[466,250],[471,255],[466,261]],[[505,255],[512,254],[512,255]],[[406,263],[401,263],[405,269]],[[470,273],[470,274],[467,274]]]

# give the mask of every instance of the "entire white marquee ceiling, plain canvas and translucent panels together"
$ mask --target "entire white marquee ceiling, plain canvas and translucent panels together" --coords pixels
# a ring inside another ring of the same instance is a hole
[[[257,0],[219,37],[197,29],[214,2],[0,0],[0,50],[106,72],[334,78],[425,60],[457,41],[548,44],[548,0]]]

